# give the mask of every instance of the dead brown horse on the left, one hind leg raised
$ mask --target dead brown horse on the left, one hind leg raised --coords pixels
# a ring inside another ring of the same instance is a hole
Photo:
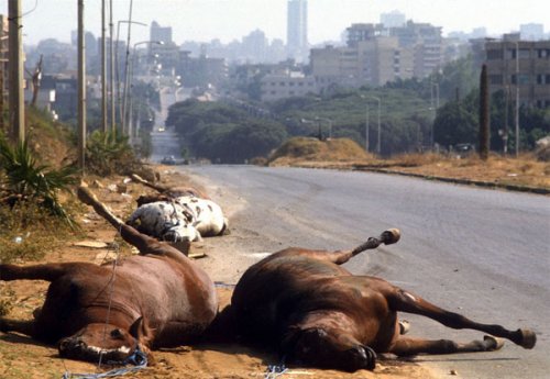
[[[1,280],[47,280],[46,300],[34,321],[0,319],[0,331],[58,342],[63,357],[123,361],[139,346],[148,352],[178,346],[213,320],[218,300],[210,278],[179,250],[140,234],[114,216],[85,188],[90,204],[140,255],[116,266],[62,263],[0,265]]]

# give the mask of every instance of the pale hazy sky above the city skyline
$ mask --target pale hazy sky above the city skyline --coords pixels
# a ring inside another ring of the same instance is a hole
[[[109,1],[106,1],[109,3]],[[77,27],[77,0],[22,0],[24,42],[47,37],[70,41]],[[113,0],[114,24],[128,20],[130,0]],[[261,29],[267,38],[286,41],[287,0],[133,0],[133,20],[173,26],[177,44],[186,40],[223,43],[241,40]],[[86,29],[96,35],[101,27],[101,0],[85,0]],[[485,26],[491,34],[517,31],[519,24],[541,23],[550,31],[549,0],[309,0],[309,42],[340,40],[346,26],[378,22],[380,14],[399,10],[407,20],[429,22],[452,31],[471,32]],[[34,9],[34,10],[33,10]],[[0,0],[8,13],[8,0]],[[121,27],[121,37],[124,36]],[[148,40],[148,26],[135,25],[132,41]]]

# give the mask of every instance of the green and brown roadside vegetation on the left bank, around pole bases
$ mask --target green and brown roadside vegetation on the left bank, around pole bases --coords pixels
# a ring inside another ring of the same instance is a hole
[[[74,197],[80,182],[76,137],[46,112],[29,108],[28,140],[8,141],[0,130],[0,261],[37,260],[80,235]],[[140,172],[127,137],[95,131],[86,149],[87,175]]]

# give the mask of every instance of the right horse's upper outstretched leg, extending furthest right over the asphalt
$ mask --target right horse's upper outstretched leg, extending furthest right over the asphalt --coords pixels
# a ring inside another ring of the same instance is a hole
[[[420,314],[436,320],[448,327],[455,330],[470,328],[485,332],[496,337],[509,339],[524,348],[532,348],[537,343],[537,336],[530,330],[519,328],[517,331],[509,331],[497,324],[477,323],[461,314],[443,310],[397,287],[394,287],[393,292],[387,294],[386,298],[394,311]],[[479,342],[473,342],[471,344],[479,345]],[[472,346],[471,344],[464,345],[464,348],[470,348]],[[484,344],[487,344],[487,342],[484,342]]]

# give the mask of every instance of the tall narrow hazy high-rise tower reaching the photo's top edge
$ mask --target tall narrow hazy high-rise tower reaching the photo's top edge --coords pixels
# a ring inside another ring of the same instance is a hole
[[[307,0],[288,0],[287,56],[304,62],[308,56],[308,2]]]

